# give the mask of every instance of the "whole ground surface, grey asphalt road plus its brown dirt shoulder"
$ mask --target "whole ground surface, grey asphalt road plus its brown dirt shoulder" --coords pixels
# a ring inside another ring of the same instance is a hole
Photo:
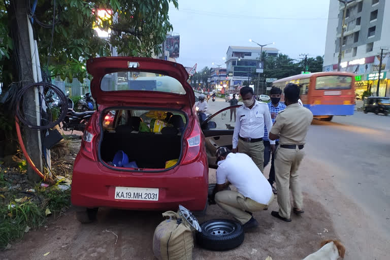
[[[226,106],[222,99],[208,103],[210,112]],[[240,247],[226,252],[195,247],[193,259],[302,259],[323,239],[340,239],[345,259],[390,259],[389,133],[390,116],[355,112],[314,121],[300,168],[305,213],[291,216],[290,223],[279,221],[270,215],[278,208],[275,199],[268,211],[254,214],[260,226]],[[215,182],[211,169],[210,182]],[[214,218],[230,216],[212,205],[199,220]],[[153,232],[162,220],[161,212],[100,209],[96,222],[80,224],[71,209],[0,252],[0,259],[153,259]]]

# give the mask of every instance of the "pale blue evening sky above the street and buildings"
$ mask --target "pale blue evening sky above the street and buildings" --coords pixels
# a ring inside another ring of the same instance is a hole
[[[178,63],[197,71],[222,64],[229,46],[256,47],[275,42],[279,53],[300,59],[322,56],[329,0],[178,0],[171,4],[170,22],[180,35]],[[334,17],[337,18],[337,17]]]

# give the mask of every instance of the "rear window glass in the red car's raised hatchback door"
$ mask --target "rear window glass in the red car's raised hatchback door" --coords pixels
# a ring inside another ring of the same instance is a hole
[[[103,91],[144,90],[185,94],[182,84],[175,78],[139,71],[115,72],[106,74],[100,83]]]

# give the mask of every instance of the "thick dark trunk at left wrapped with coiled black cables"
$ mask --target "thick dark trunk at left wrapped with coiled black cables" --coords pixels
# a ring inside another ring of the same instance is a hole
[[[28,37],[28,25],[27,25],[27,4],[25,0],[14,0],[11,1],[9,8],[9,19],[11,30],[13,31],[13,43],[14,43],[14,52],[16,52],[15,60],[18,66],[14,68],[18,71],[20,86],[26,86],[34,83],[34,78],[32,75],[32,61],[31,61],[31,52],[29,45]],[[27,118],[30,122],[36,122],[35,113],[35,94],[34,90],[31,88],[23,96],[25,105],[23,109],[29,111],[31,116]],[[35,166],[42,172],[42,157],[39,153],[39,146],[41,145],[38,142],[38,133],[36,130],[30,129],[27,126],[23,129],[23,141],[26,147],[27,153],[30,156],[31,160],[34,162]],[[31,169],[27,164],[27,174],[30,181],[37,182],[41,178]]]

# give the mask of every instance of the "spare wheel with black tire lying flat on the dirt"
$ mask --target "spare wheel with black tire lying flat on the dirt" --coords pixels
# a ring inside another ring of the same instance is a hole
[[[197,232],[200,247],[225,251],[238,247],[244,242],[242,225],[230,219],[211,219],[201,224],[202,232]]]

